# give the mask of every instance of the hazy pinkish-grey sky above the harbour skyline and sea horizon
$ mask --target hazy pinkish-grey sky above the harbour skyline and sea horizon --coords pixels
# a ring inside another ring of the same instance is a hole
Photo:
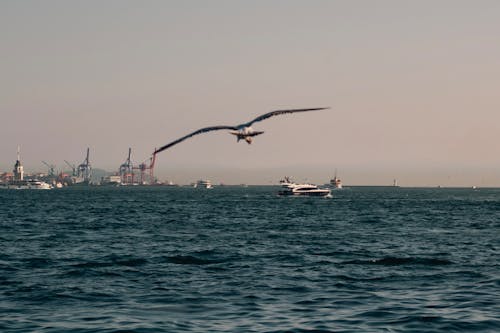
[[[17,145],[161,179],[500,186],[500,1],[0,0],[0,170]]]

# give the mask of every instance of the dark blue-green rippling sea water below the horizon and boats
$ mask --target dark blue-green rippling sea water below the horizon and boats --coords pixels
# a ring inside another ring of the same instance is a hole
[[[0,192],[1,332],[500,332],[500,190]]]

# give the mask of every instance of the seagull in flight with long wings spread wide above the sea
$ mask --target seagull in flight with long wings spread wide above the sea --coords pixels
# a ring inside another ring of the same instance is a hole
[[[265,113],[261,116],[258,116],[254,120],[251,120],[247,123],[243,123],[243,124],[236,125],[236,126],[224,126],[224,125],[222,125],[222,126],[210,126],[210,127],[200,128],[197,131],[194,131],[188,135],[185,135],[185,136],[183,136],[175,141],[167,143],[166,145],[156,149],[154,154],[162,152],[165,149],[168,149],[168,148],[170,148],[170,147],[172,147],[172,146],[174,146],[174,145],[176,145],[176,144],[178,144],[186,139],[189,139],[192,136],[195,136],[195,135],[198,135],[201,133],[206,133],[206,132],[211,132],[211,131],[219,131],[219,130],[231,130],[229,133],[236,136],[236,141],[245,140],[248,144],[251,144],[252,137],[264,133],[263,131],[255,131],[254,129],[252,129],[251,126],[253,123],[256,123],[258,121],[262,121],[262,120],[265,120],[267,118],[271,118],[271,117],[274,117],[274,116],[277,116],[280,114],[306,112],[306,111],[319,111],[319,110],[325,110],[325,109],[329,109],[329,108],[326,107],[326,108],[310,108],[310,109],[276,110],[276,111],[271,111],[271,112]]]

